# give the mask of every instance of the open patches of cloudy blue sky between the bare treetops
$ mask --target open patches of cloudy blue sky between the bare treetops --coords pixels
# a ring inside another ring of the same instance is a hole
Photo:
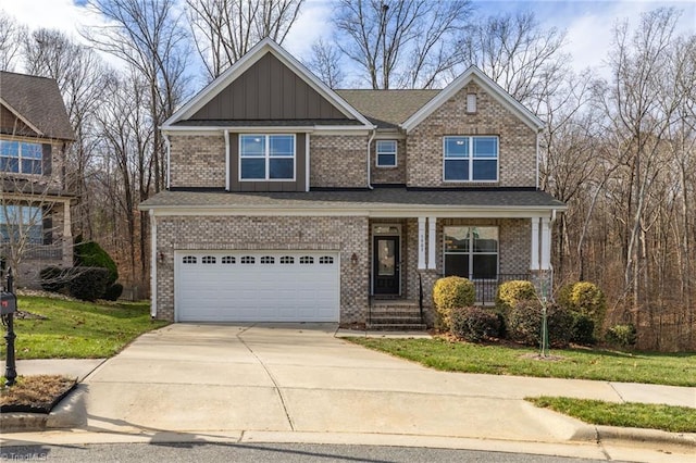
[[[89,13],[87,0],[0,0],[0,10],[14,16],[29,29],[49,27],[79,38],[84,26],[103,26],[101,17]],[[473,0],[483,15],[533,10],[546,28],[567,32],[567,49],[576,70],[594,67],[601,73],[611,30],[618,21],[635,25],[643,12],[659,7],[684,10],[678,29],[696,33],[696,2],[693,0]],[[311,45],[331,37],[331,0],[306,0],[297,24],[283,46],[300,59],[309,57]],[[111,61],[111,60],[110,60]]]

